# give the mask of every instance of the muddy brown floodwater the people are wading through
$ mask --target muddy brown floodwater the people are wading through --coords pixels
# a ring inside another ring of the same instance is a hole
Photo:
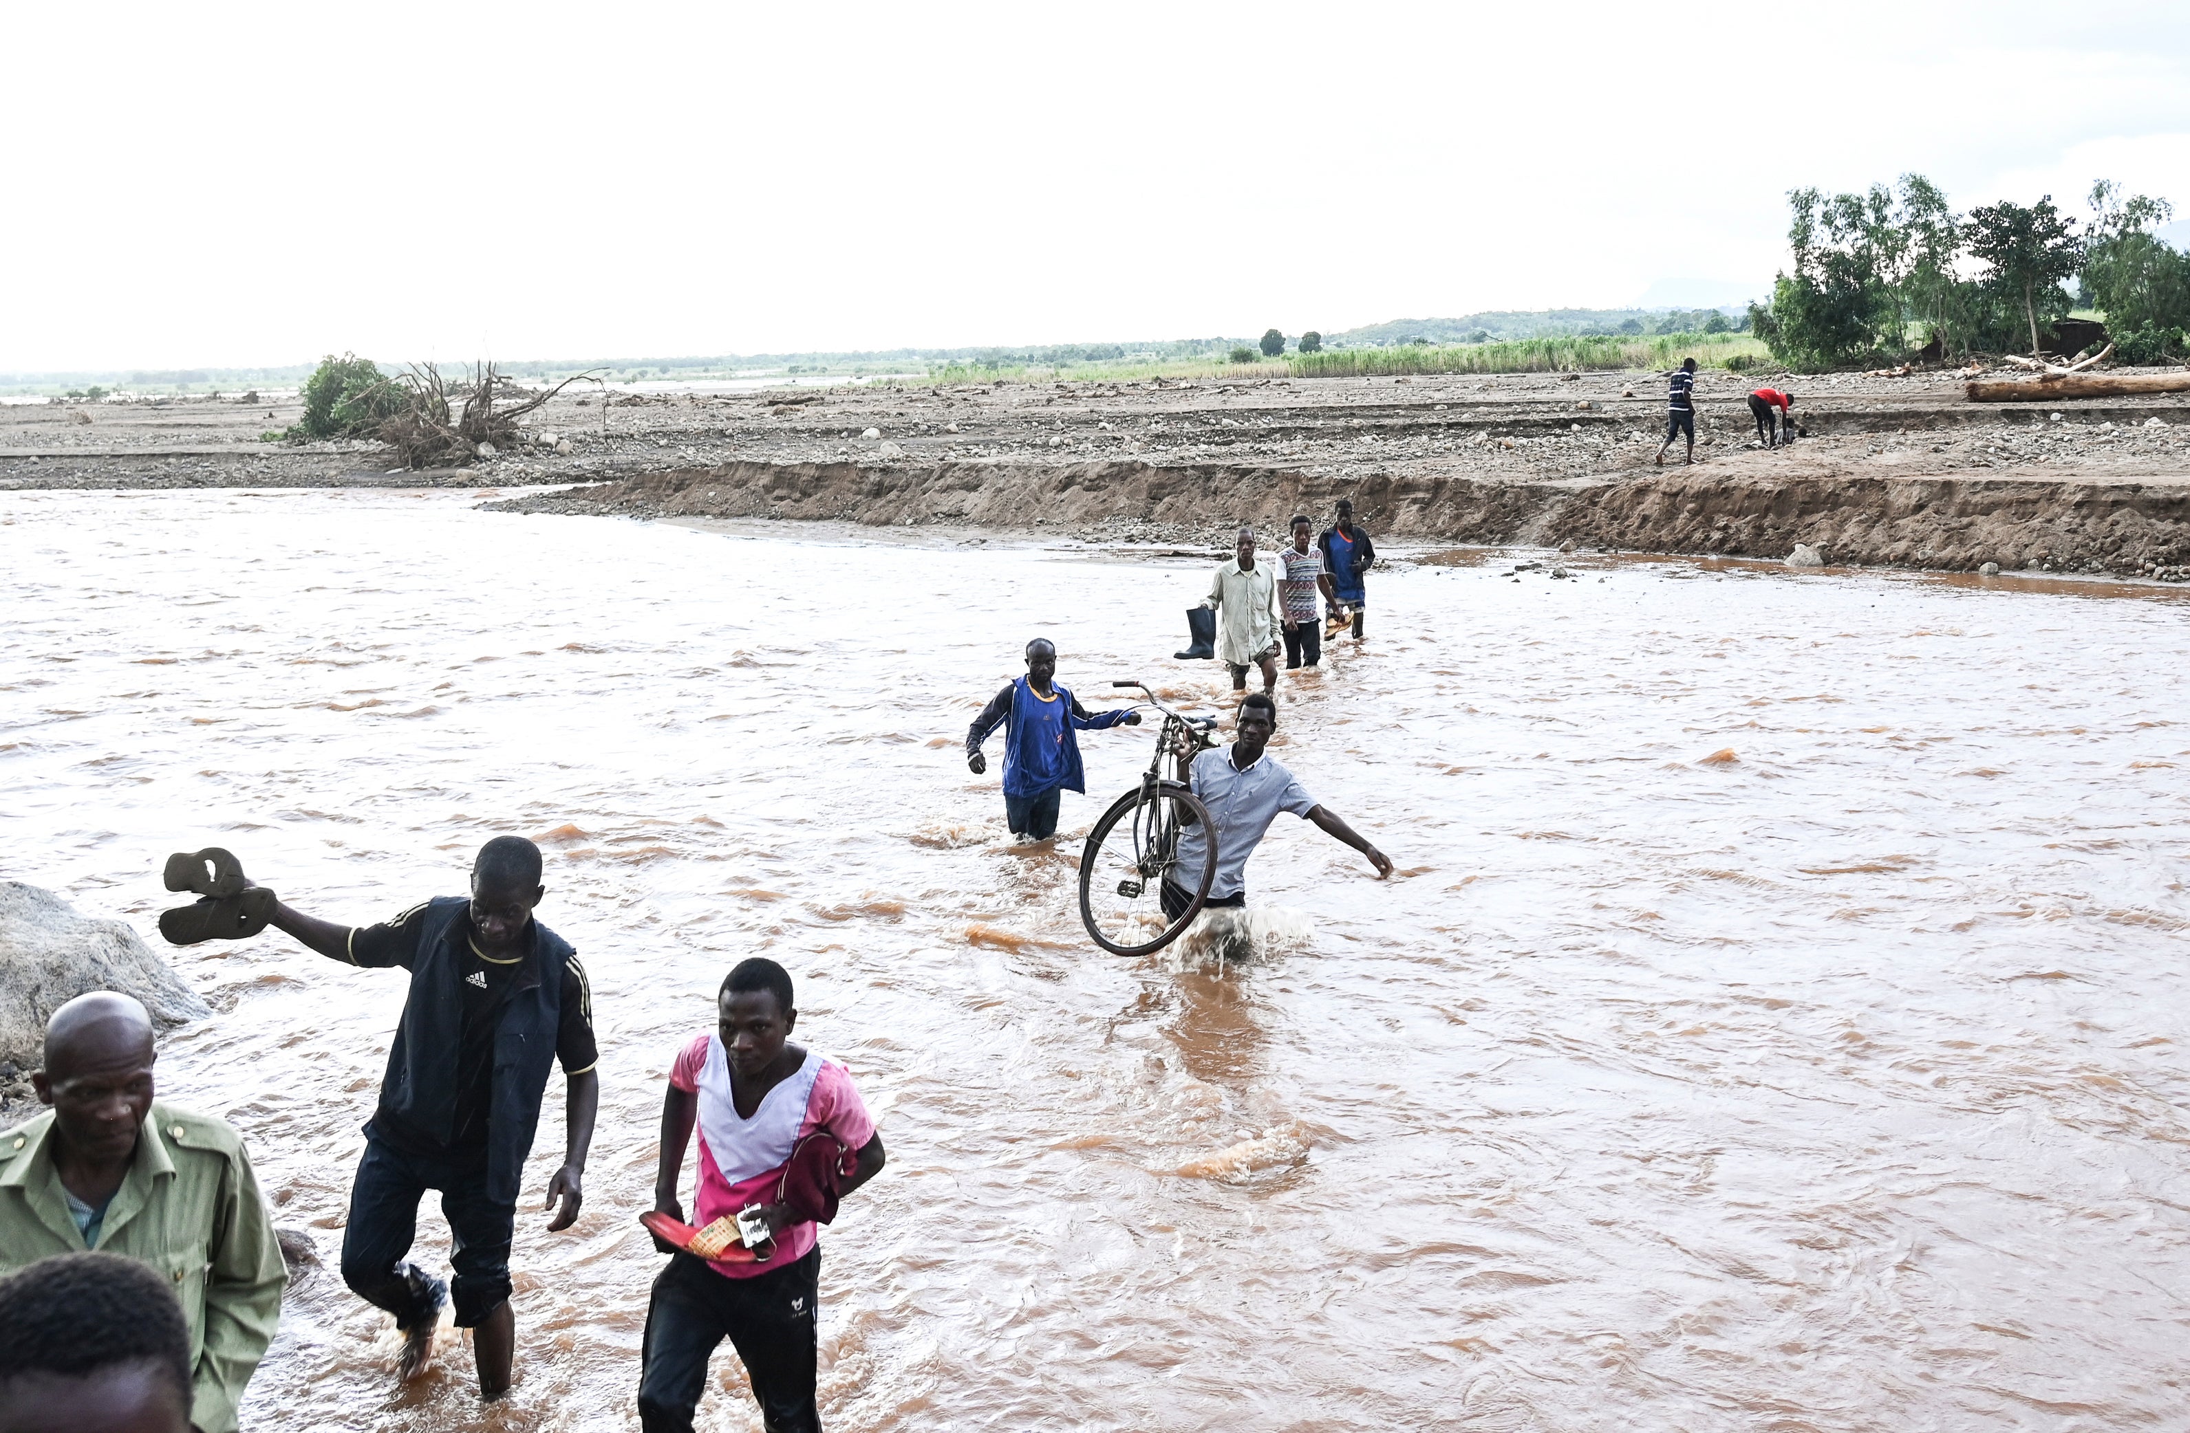
[[[401,974],[177,952],[164,1090],[326,1260],[250,1426],[635,1426],[661,1079],[756,952],[891,1155],[823,1238],[837,1431],[2183,1426],[2179,593],[1378,573],[1277,742],[1402,875],[1286,820],[1277,947],[1128,963],[959,742],[1038,632],[1213,709],[1200,562],[471,501],[0,497],[9,875],[149,932],[226,844],[361,923],[521,831],[591,971],[587,1208],[543,1232],[552,1094],[482,1411],[333,1269]]]

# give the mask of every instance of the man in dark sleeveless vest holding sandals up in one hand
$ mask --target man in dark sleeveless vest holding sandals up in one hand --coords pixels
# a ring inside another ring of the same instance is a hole
[[[569,943],[532,919],[543,895],[539,847],[497,836],[480,847],[469,899],[445,895],[361,928],[274,908],[276,928],[331,960],[401,965],[412,976],[350,1186],[342,1278],[396,1317],[396,1372],[405,1380],[423,1374],[451,1291],[405,1256],[418,1201],[440,1190],[456,1240],[456,1326],[473,1330],[480,1396],[488,1400],[510,1387],[510,1238],[550,1065],[561,1059],[569,1083],[569,1142],[548,1181],[548,1205],[561,1203],[550,1232],[578,1221],[600,1105],[593,993]]]

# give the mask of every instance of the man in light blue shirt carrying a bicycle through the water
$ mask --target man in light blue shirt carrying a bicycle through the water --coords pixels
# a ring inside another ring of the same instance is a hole
[[[1369,858],[1378,879],[1391,875],[1391,860],[1369,844],[1336,812],[1307,794],[1299,777],[1286,770],[1277,757],[1264,748],[1277,731],[1277,702],[1255,694],[1240,702],[1240,722],[1229,748],[1204,750],[1191,757],[1180,750],[1178,779],[1194,788],[1194,794],[1209,807],[1209,820],[1218,836],[1218,873],[1209,882],[1209,899],[1202,906],[1246,906],[1246,858],[1261,844],[1270,823],[1279,812],[1292,812],[1314,820],[1325,836],[1336,836]],[[1178,834],[1178,871],[1200,871],[1209,860],[1209,834],[1189,825]],[[1163,882],[1163,917],[1176,921],[1194,901],[1191,890]]]

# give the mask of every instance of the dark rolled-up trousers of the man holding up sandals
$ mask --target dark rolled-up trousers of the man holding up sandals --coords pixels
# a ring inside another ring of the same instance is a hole
[[[486,1197],[486,1151],[442,1157],[399,1149],[366,1135],[366,1155],[350,1186],[350,1223],[342,1232],[342,1282],[357,1297],[396,1315],[410,1328],[434,1313],[431,1280],[403,1256],[418,1238],[418,1201],[440,1190],[456,1247],[456,1326],[475,1328],[510,1297],[510,1232],[517,1205]]]

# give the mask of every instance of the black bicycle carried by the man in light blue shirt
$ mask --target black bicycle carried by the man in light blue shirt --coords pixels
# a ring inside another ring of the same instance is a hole
[[[1143,683],[1110,683],[1134,687],[1150,707],[1163,713],[1156,731],[1156,755],[1141,772],[1141,783],[1110,803],[1088,844],[1080,853],[1080,921],[1097,945],[1115,956],[1148,956],[1194,921],[1209,899],[1209,882],[1218,875],[1215,827],[1209,807],[1178,781],[1165,781],[1163,761],[1191,742],[1194,750],[1215,746],[1215,718],[1189,718],[1165,707]],[[1178,834],[1189,823],[1202,823],[1200,871],[1178,871]],[[1165,882],[1191,893],[1178,917],[1163,912]],[[1150,934],[1154,932],[1154,934]]]

